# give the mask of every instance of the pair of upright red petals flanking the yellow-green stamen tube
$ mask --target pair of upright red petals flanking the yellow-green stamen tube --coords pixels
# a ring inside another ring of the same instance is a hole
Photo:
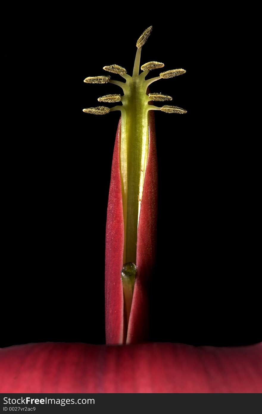
[[[121,270],[124,253],[123,198],[120,177],[121,120],[115,140],[106,224],[106,342],[142,342],[148,332],[148,282],[156,252],[157,159],[154,113],[149,111],[149,152],[137,230],[137,276],[128,331],[124,320]]]

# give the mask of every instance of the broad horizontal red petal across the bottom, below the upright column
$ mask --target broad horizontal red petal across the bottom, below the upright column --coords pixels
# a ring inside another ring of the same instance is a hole
[[[262,392],[248,347],[29,344],[0,349],[0,392]]]

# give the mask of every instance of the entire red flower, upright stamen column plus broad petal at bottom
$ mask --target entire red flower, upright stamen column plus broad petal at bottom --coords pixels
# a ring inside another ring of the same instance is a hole
[[[155,107],[152,100],[171,96],[150,93],[149,84],[185,73],[161,72],[163,63],[142,65],[141,47],[151,26],[137,41],[132,77],[119,65],[104,67],[109,76],[87,77],[86,83],[113,83],[124,96],[105,95],[84,112],[104,115],[120,110],[115,140],[106,227],[106,346],[43,343],[0,349],[0,392],[262,392],[262,344],[248,347],[192,347],[154,344],[146,338],[147,284],[154,265],[157,212],[157,162],[152,110],[185,113],[182,108]]]

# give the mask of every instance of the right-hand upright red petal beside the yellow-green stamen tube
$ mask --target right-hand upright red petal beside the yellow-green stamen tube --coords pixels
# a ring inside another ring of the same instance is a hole
[[[148,282],[156,258],[157,155],[154,111],[149,111],[149,152],[137,231],[137,277],[130,313],[127,343],[148,339]]]

